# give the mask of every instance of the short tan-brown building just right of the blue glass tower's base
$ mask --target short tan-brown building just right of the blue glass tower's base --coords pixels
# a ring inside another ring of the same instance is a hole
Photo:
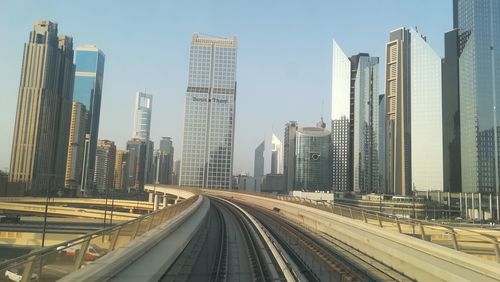
[[[98,140],[94,170],[94,187],[100,194],[113,188],[116,146],[109,140]]]

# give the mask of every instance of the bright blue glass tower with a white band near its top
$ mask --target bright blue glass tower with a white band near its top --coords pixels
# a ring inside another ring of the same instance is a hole
[[[75,86],[73,101],[82,103],[88,111],[86,134],[88,148],[84,150],[81,191],[92,194],[95,155],[99,134],[102,85],[104,77],[104,53],[93,45],[78,46],[75,49]]]

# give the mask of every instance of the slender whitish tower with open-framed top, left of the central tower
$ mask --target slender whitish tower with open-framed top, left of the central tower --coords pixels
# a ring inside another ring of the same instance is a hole
[[[146,159],[144,160],[144,181],[153,183],[155,172],[153,170],[154,143],[149,140],[151,131],[151,114],[153,110],[153,95],[142,92],[135,93],[134,132],[132,138],[140,139],[146,144]]]

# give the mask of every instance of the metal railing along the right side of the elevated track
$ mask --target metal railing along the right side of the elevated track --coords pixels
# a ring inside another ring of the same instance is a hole
[[[500,231],[498,230],[482,229],[478,231],[473,228],[457,228],[425,220],[398,217],[373,210],[337,203],[316,202],[299,197],[262,194],[260,196],[321,209],[500,263]]]

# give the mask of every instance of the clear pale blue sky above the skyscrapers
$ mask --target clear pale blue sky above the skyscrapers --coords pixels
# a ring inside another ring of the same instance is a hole
[[[383,66],[389,32],[417,26],[442,56],[452,1],[2,0],[0,169],[10,162],[23,44],[38,19],[56,21],[75,46],[94,44],[106,54],[99,138],[125,147],[132,135],[134,93],[145,90],[154,95],[152,139],[171,136],[176,159],[192,33],[237,35],[237,174],[253,173],[255,147],[264,138],[270,142],[273,131],[282,139],[287,121],[313,125],[323,113],[329,124],[332,39],[347,55],[380,56]],[[266,171],[269,162],[266,157]]]

